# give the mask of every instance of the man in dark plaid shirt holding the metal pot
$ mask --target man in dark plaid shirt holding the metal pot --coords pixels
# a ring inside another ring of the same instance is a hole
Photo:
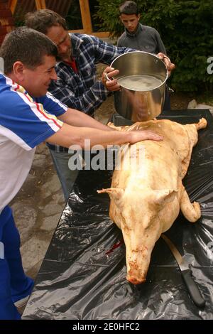
[[[130,48],[118,48],[105,43],[94,36],[67,32],[66,21],[62,16],[41,9],[26,15],[26,26],[45,33],[58,47],[58,63],[56,73],[58,80],[52,82],[49,91],[68,107],[79,109],[89,115],[99,107],[110,92],[119,90],[116,80],[107,81],[118,73],[107,67],[101,80],[97,80],[97,63],[111,64],[119,55],[132,51]],[[163,53],[160,58],[163,58]],[[168,69],[173,69],[165,59]],[[68,166],[70,153],[66,148],[48,144],[58,177],[62,184],[65,199],[68,198],[78,171],[71,171]]]

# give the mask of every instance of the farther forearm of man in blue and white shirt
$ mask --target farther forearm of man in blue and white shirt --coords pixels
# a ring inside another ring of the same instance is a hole
[[[58,119],[72,126],[88,127],[103,131],[111,131],[111,128],[109,128],[109,126],[106,126],[98,122],[96,119],[88,116],[87,114],[84,114],[83,112],[80,112],[75,109],[70,109],[70,108],[67,109],[67,112],[65,112],[65,114],[62,114],[62,116],[58,117]]]

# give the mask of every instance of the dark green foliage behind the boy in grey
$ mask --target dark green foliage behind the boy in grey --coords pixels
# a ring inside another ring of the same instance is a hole
[[[120,36],[121,0],[98,0],[100,30]],[[180,91],[212,90],[213,74],[207,73],[207,58],[213,56],[213,1],[138,0],[141,23],[160,33],[176,69],[170,86]]]

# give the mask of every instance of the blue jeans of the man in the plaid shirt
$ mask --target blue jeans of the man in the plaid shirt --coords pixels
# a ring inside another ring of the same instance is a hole
[[[53,158],[55,170],[57,171],[58,178],[62,185],[62,191],[64,193],[65,200],[67,200],[79,171],[77,169],[75,169],[75,171],[71,171],[68,166],[68,162],[72,156],[72,153],[58,152],[50,149],[50,154]]]

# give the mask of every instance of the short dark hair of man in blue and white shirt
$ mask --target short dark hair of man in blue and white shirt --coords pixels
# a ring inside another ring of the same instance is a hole
[[[19,27],[8,33],[0,48],[0,57],[4,59],[4,73],[13,71],[13,64],[21,61],[28,68],[43,64],[45,55],[58,55],[57,46],[43,33],[28,27]]]

